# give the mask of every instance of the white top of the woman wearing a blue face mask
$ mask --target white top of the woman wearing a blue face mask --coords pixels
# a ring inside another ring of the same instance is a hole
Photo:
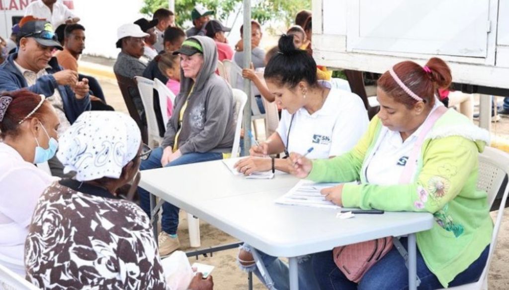
[[[35,206],[54,180],[0,142],[0,264],[24,277],[24,244]]]

